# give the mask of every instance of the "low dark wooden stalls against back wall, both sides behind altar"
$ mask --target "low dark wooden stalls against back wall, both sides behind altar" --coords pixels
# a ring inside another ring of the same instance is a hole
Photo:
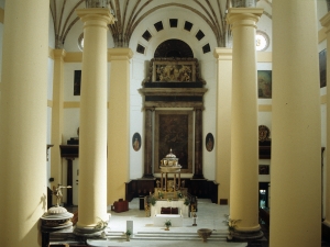
[[[152,179],[132,179],[129,182],[125,182],[125,200],[132,201],[134,198],[145,197],[153,194],[155,191],[156,180],[161,178]],[[185,181],[185,188],[191,195],[202,199],[210,199],[213,203],[218,202],[218,186],[213,180],[207,179],[185,179],[182,178],[182,181]]]

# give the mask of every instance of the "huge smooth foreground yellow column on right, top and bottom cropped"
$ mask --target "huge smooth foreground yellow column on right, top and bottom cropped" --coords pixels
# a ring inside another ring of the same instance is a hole
[[[273,2],[272,247],[321,246],[316,4]]]

